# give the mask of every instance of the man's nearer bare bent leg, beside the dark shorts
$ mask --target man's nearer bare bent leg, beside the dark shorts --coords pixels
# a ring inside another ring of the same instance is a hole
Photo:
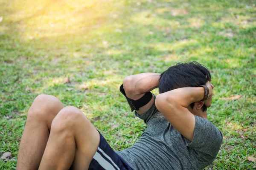
[[[75,107],[63,108],[52,121],[39,170],[87,170],[99,147],[99,132]]]

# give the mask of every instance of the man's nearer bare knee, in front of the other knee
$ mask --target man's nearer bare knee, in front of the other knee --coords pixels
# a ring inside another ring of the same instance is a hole
[[[74,132],[74,128],[79,125],[81,119],[86,119],[84,114],[76,107],[67,106],[55,116],[52,121],[53,131],[61,132]],[[70,133],[71,134],[71,133]]]

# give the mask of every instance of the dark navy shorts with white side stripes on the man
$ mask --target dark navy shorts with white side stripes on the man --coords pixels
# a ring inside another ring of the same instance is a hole
[[[133,170],[115,153],[101,133],[99,133],[99,136],[99,147],[90,162],[88,170]]]

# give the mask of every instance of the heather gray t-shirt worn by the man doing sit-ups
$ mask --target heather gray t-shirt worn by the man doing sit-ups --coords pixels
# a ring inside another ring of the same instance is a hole
[[[146,130],[134,145],[116,151],[134,170],[202,170],[221,148],[221,131],[207,119],[195,116],[190,142],[165,119],[155,103],[143,115],[135,112],[135,116],[144,120]]]

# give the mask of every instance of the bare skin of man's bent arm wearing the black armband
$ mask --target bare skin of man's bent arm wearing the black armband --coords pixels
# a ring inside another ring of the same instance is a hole
[[[158,73],[141,73],[125,77],[123,80],[123,86],[125,94],[130,99],[140,99],[146,92],[152,91],[158,87],[160,74]],[[154,95],[148,104],[136,111],[142,115],[147,111],[154,102]]]

